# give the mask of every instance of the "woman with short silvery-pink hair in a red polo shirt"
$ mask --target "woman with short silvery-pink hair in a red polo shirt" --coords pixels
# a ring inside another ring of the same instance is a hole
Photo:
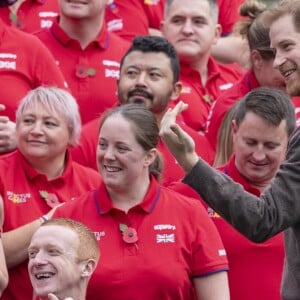
[[[32,298],[23,263],[32,233],[57,205],[98,186],[99,174],[73,162],[69,155],[68,148],[78,141],[80,124],[76,100],[59,88],[39,87],[19,104],[18,149],[0,158],[3,246],[11,279],[1,299]]]

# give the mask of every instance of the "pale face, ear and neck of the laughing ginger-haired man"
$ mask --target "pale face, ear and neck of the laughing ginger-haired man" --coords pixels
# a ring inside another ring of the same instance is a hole
[[[95,259],[78,256],[77,233],[67,227],[42,226],[28,248],[28,272],[35,295],[41,300],[86,299],[86,288],[96,267]],[[41,274],[52,274],[44,281]]]

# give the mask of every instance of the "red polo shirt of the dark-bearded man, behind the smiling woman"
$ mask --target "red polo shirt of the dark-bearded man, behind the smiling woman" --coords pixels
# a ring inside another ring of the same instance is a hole
[[[196,145],[196,152],[199,156],[201,156],[209,164],[212,164],[214,160],[214,151],[212,150],[208,140],[181,121],[178,122],[181,128],[193,137]],[[75,161],[95,170],[97,170],[96,150],[98,145],[99,125],[100,118],[85,124],[82,128],[79,145],[71,150]],[[159,141],[157,148],[162,154],[164,163],[162,172],[163,185],[167,186],[173,181],[180,180],[184,176],[184,172],[170,153],[169,149],[161,140]]]

